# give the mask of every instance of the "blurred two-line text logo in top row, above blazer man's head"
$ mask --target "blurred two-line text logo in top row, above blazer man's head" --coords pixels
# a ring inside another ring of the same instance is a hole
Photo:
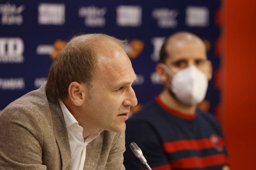
[[[87,27],[103,27],[106,25],[106,12],[106,7],[82,6],[78,10],[78,16],[84,18],[84,25]]]

